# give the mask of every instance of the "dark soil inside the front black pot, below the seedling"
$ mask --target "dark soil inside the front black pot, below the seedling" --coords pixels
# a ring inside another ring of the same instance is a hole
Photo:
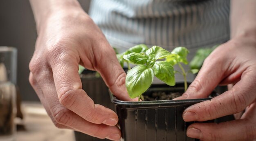
[[[171,100],[176,97],[181,96],[182,93],[180,92],[153,92],[152,95],[144,95],[144,101],[154,101],[154,100]]]

